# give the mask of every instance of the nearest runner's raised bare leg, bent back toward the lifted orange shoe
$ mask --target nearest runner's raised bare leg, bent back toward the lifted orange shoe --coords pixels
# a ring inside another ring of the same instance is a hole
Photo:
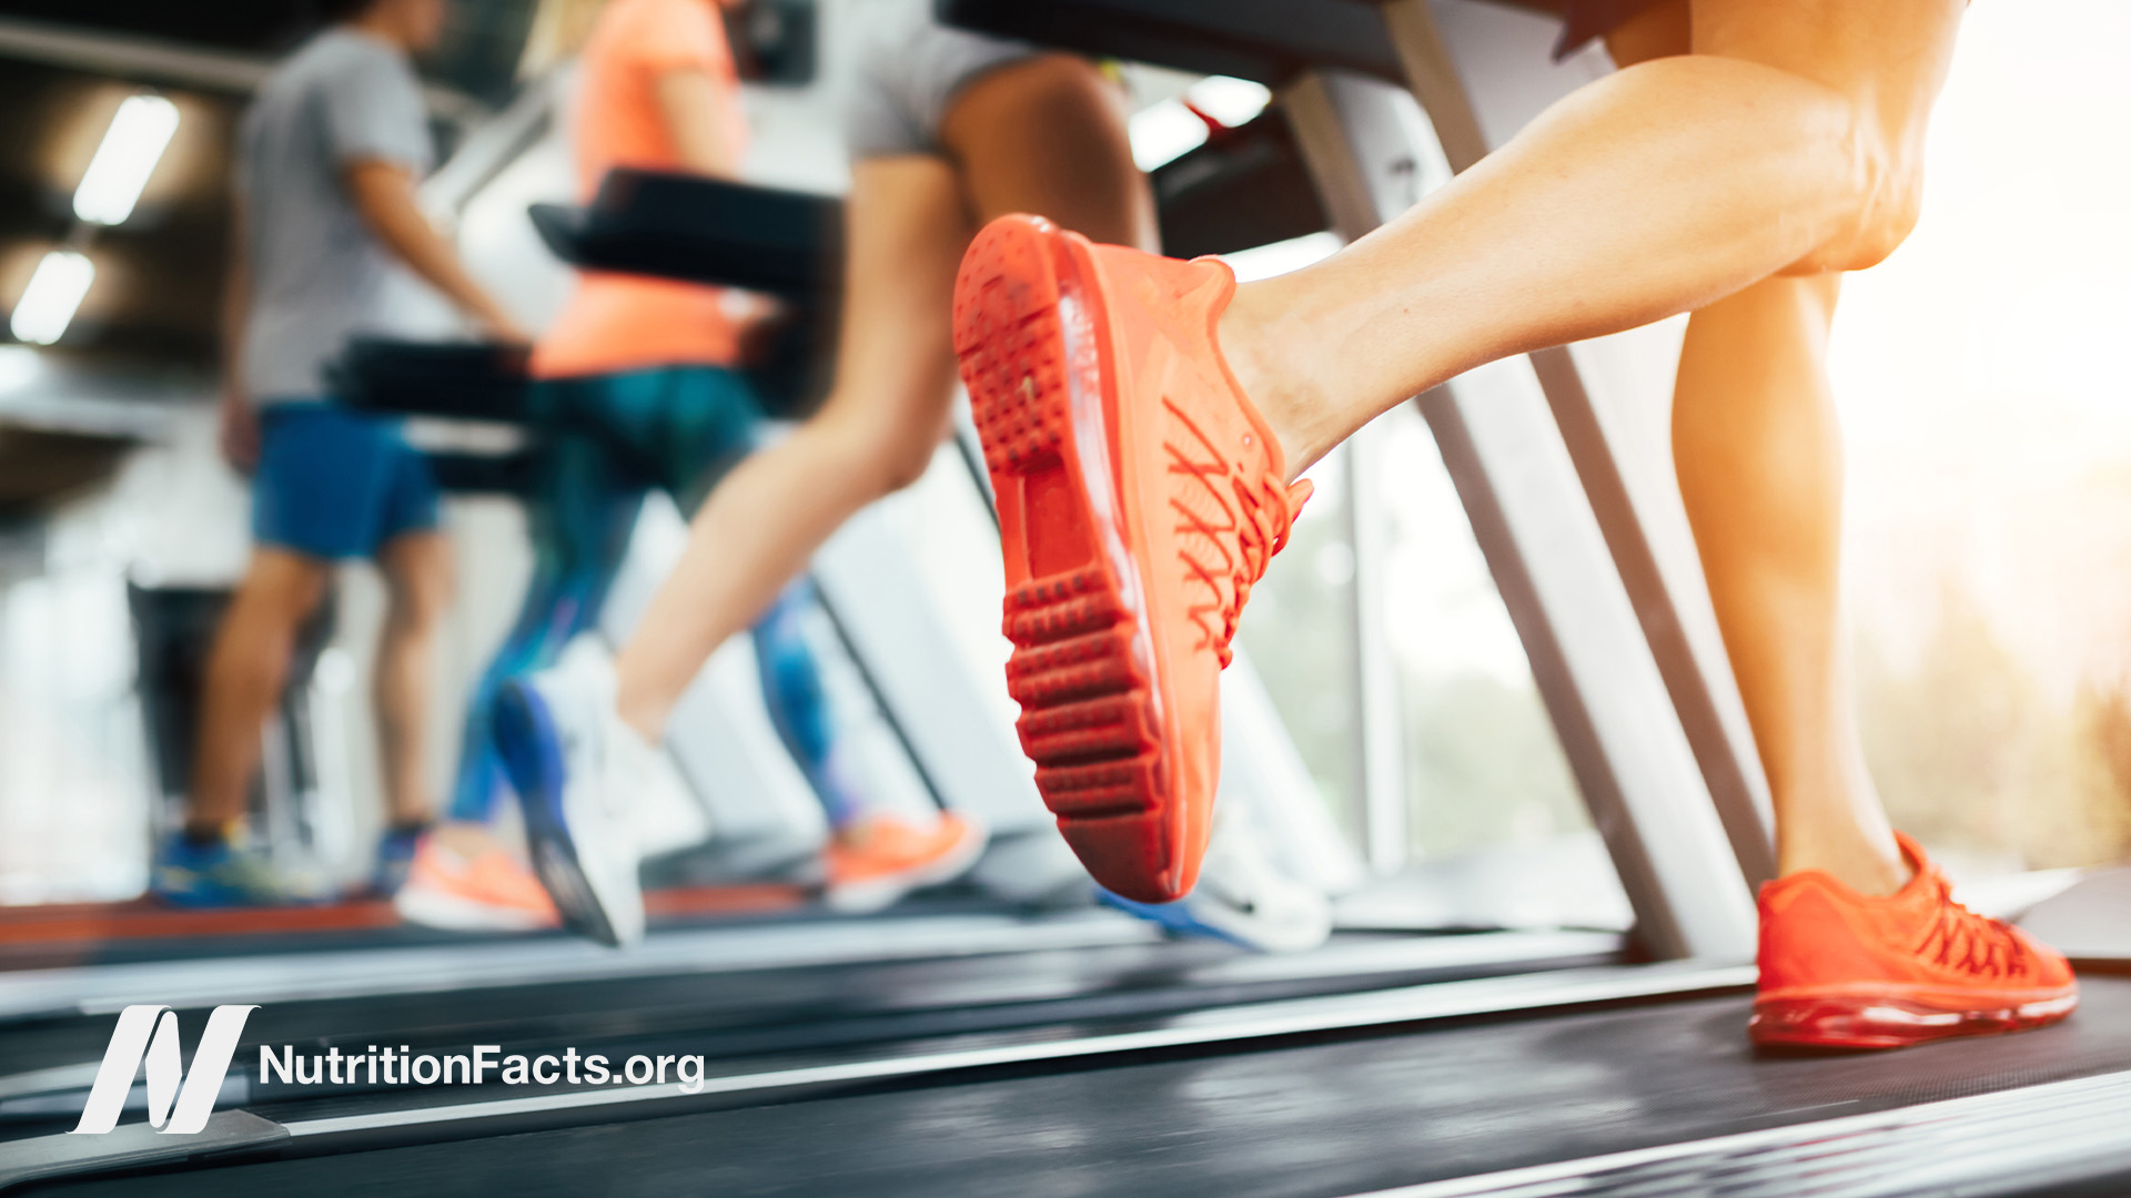
[[[1347,252],[1247,286],[1230,362],[1300,471],[1481,362],[1865,269],[1916,220],[1963,0],[1694,0],[1630,66]]]

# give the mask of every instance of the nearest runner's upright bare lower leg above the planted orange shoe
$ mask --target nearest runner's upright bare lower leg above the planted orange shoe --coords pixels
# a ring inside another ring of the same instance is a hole
[[[1841,627],[1843,450],[1824,360],[1837,279],[1767,279],[1694,313],[1673,458],[1782,870],[1892,893],[1907,870],[1865,770]]]

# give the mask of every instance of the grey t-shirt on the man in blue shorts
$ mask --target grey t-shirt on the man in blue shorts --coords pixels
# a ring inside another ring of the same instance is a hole
[[[428,173],[428,117],[396,47],[332,28],[266,77],[239,132],[251,254],[243,371],[254,399],[324,396],[324,367],[347,339],[392,326],[386,301],[401,264],[347,198],[341,168],[354,160]]]

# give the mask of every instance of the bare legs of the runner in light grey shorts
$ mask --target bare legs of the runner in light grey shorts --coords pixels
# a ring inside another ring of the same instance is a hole
[[[859,507],[914,482],[946,431],[948,309],[974,215],[1038,211],[1095,237],[1153,241],[1117,92],[1046,55],[972,83],[933,156],[852,168],[837,382],[791,439],[733,469],[616,657],[618,706],[658,740],[725,637],[748,627]]]

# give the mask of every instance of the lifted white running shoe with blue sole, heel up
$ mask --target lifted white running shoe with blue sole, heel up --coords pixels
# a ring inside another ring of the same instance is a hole
[[[490,718],[524,806],[533,870],[563,923],[603,944],[635,944],[644,887],[631,808],[693,799],[665,752],[616,714],[605,646],[580,635],[554,669],[505,682]]]

